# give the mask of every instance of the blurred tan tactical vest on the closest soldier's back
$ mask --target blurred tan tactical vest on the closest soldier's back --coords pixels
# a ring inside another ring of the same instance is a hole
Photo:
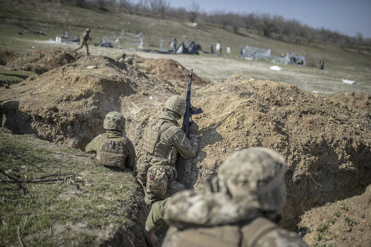
[[[279,228],[264,217],[246,225],[221,225],[207,228],[188,228],[166,236],[163,246],[177,247],[254,247],[269,231]],[[168,233],[172,233],[169,229]],[[176,243],[175,243],[176,242]]]

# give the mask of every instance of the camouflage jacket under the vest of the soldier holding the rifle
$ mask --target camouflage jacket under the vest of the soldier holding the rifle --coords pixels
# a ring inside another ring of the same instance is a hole
[[[162,132],[159,143],[164,143],[167,140],[172,146],[175,147],[173,157],[177,157],[178,154],[185,159],[193,158],[196,156],[198,150],[197,136],[190,134],[189,139],[185,136],[184,131],[178,127],[178,122],[175,118],[168,115],[165,111],[162,111],[159,118],[170,120],[174,123],[173,126]],[[156,157],[147,152],[143,152],[142,159],[139,158],[140,162],[149,162],[152,165],[175,165],[175,159],[168,162],[167,159]]]

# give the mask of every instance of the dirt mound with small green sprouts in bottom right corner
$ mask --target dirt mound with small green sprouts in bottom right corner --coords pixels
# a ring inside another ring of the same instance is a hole
[[[363,195],[306,212],[299,224],[308,246],[371,246],[371,185]]]

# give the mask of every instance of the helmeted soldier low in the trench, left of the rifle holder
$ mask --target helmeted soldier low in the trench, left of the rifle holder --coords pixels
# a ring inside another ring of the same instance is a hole
[[[119,112],[107,113],[103,128],[106,133],[96,136],[85,151],[96,153],[101,165],[113,171],[135,168],[135,149],[133,143],[124,136],[125,118]]]

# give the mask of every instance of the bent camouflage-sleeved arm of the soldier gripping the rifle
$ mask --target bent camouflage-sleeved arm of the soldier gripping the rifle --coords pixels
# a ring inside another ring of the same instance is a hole
[[[197,135],[189,134],[189,139],[181,129],[170,138],[170,143],[177,148],[178,153],[185,159],[196,157],[198,150]]]

